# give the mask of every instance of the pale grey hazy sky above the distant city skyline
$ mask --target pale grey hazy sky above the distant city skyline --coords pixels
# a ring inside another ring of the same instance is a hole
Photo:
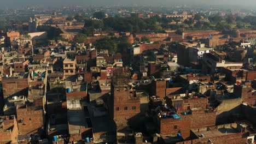
[[[79,4],[211,4],[211,5],[242,5],[256,7],[256,0],[0,0],[1,8],[24,7],[30,5],[57,6]]]

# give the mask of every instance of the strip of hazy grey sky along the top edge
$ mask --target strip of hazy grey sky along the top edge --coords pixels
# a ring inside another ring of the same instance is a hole
[[[236,7],[237,8],[250,8],[255,9],[256,7],[256,1],[255,0],[244,0],[243,2],[239,0],[179,0],[178,2],[176,0],[159,0],[159,1],[153,1],[153,0],[130,0],[130,1],[124,1],[124,0],[94,0],[94,1],[88,1],[88,0],[0,0],[0,9],[19,9],[19,8],[26,8],[26,7],[40,7],[40,8],[60,8],[60,7],[74,7],[74,6],[85,6],[85,5],[96,5],[96,6],[104,6],[104,5],[124,5],[124,6],[132,6],[132,5],[153,5],[153,6],[164,6],[164,7],[172,7],[176,5],[188,5],[188,7],[195,7],[196,5],[202,6],[206,5],[208,7],[228,7],[227,9],[230,9],[230,7]]]

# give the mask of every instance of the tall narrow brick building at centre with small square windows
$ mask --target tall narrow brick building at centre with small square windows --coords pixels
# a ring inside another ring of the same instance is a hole
[[[120,123],[126,123],[125,121],[133,127],[138,126],[139,122],[140,100],[127,85],[129,77],[130,73],[127,69],[116,69],[112,79],[110,102],[112,104],[109,105],[111,107],[109,110],[118,130],[124,128]]]

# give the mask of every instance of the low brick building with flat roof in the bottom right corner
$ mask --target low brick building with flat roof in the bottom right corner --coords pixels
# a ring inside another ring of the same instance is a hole
[[[176,144],[187,143],[218,143],[218,144],[241,144],[253,143],[255,131],[248,122],[237,122],[212,127],[201,127],[190,130],[190,139]]]

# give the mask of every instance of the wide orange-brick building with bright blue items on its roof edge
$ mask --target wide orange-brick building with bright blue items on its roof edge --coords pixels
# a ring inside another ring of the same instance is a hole
[[[182,113],[171,115],[168,112],[162,112],[167,115],[156,117],[158,132],[162,135],[177,135],[181,133],[184,139],[190,136],[190,129],[208,127],[216,124],[216,112],[208,111],[202,107],[195,107],[185,115]],[[173,117],[174,116],[174,117]]]

